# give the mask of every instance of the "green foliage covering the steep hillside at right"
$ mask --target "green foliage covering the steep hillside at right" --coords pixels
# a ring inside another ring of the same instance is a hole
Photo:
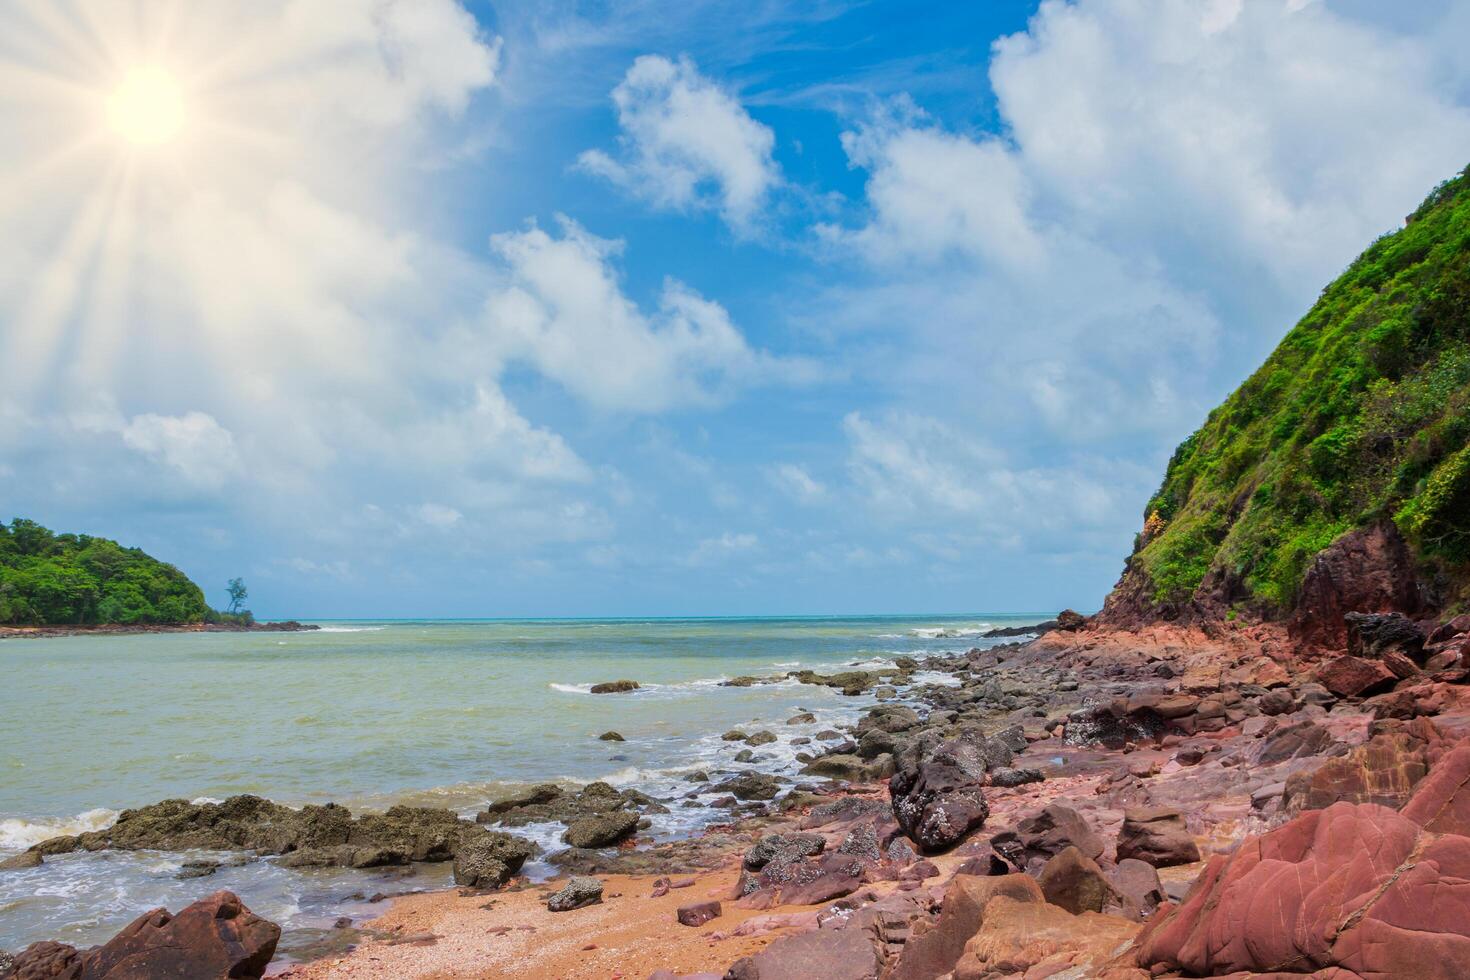
[[[1155,602],[1213,570],[1289,608],[1311,558],[1374,522],[1470,577],[1470,169],[1322,292],[1179,447],[1145,517],[1132,567]]]

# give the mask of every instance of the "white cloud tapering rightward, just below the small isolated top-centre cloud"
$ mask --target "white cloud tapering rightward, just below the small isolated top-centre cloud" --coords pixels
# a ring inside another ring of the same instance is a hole
[[[560,237],[532,226],[494,238],[507,272],[485,304],[497,356],[528,360],[579,398],[620,411],[709,404],[736,383],[816,376],[810,364],[751,350],[720,304],[675,279],[645,313],[617,281],[622,242],[560,223]]]

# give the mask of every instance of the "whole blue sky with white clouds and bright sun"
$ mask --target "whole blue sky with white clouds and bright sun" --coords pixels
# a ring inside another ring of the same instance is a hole
[[[1470,0],[0,0],[0,514],[266,617],[1095,610]]]

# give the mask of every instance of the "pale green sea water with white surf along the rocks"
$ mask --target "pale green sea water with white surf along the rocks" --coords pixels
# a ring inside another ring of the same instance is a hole
[[[848,721],[872,698],[722,680],[958,652],[998,642],[979,639],[986,629],[1041,619],[353,621],[307,633],[0,641],[0,857],[173,796],[257,793],[354,813],[407,802],[467,815],[534,782],[606,779],[672,796],[689,790],[682,776],[695,768],[794,773],[800,746],[789,739]],[[642,689],[588,692],[625,677]],[[816,721],[786,726],[798,710]],[[736,764],[745,746],[719,739],[736,726],[769,727],[779,741]],[[610,729],[626,741],[597,741]],[[720,815],[675,807],[651,836]],[[550,846],[560,830],[516,833]],[[382,908],[359,893],[448,884],[447,865],[300,871],[269,860],[176,880],[198,857],[79,854],[0,873],[0,949],[103,942],[148,908],[176,909],[220,887],[300,932]]]

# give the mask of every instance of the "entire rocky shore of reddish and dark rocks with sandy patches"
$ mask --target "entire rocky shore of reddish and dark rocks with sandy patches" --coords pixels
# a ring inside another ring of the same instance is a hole
[[[1470,976],[1470,617],[1348,614],[1341,648],[1270,624],[1058,623],[1030,642],[798,677],[879,699],[804,745],[794,777],[761,771],[761,732],[731,732],[750,765],[692,773],[685,798],[545,785],[475,820],[256,798],[128,811],[22,858],[450,861],[459,887],[343,923],[313,962],[268,967],[279,930],[218,893],[94,951],[37,943],[0,958],[0,977],[121,980],[194,955],[178,976]],[[920,671],[945,683],[914,683]],[[648,840],[711,786],[728,818]],[[535,848],[516,829],[545,821],[564,827],[548,855],[564,874],[531,884],[519,873]],[[201,918],[215,924],[179,924]]]

